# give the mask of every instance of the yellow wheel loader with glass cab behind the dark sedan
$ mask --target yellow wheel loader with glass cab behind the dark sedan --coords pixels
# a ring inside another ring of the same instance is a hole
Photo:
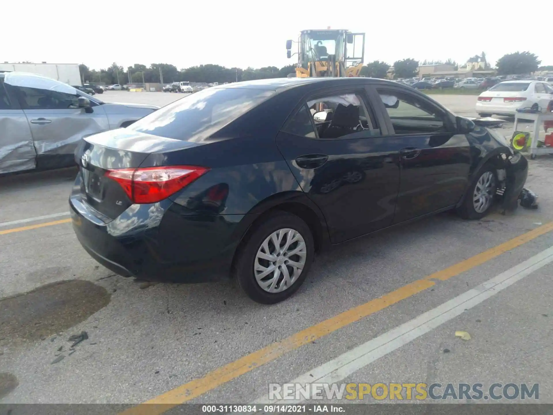
[[[298,55],[296,76],[359,76],[365,55],[365,34],[347,30],[302,30],[298,52],[292,53],[292,40],[286,41],[288,58]]]

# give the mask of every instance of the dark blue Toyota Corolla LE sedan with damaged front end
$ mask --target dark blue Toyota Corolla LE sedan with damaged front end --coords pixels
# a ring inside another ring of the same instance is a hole
[[[76,151],[75,232],[122,276],[237,278],[276,303],[315,252],[456,209],[516,201],[528,163],[492,130],[370,78],[270,79],[182,98]]]

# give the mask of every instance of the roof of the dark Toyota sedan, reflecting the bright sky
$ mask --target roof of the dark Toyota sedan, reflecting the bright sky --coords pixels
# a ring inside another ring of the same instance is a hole
[[[376,84],[392,84],[397,85],[397,82],[392,82],[383,79],[367,78],[367,77],[308,77],[308,78],[270,78],[258,79],[253,81],[232,82],[232,84],[224,84],[212,86],[212,88],[251,88],[279,91],[306,85],[319,84],[320,86],[337,86],[337,85],[365,85],[369,83]]]

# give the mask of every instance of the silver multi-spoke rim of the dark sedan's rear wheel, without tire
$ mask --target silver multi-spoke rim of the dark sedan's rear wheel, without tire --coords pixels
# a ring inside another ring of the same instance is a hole
[[[305,240],[298,231],[289,228],[274,231],[255,255],[255,281],[269,293],[282,292],[298,281],[306,256]]]

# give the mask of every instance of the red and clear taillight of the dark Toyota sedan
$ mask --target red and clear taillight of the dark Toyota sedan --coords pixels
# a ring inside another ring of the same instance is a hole
[[[133,203],[156,203],[168,198],[209,169],[193,165],[113,169],[106,177],[117,181]]]

